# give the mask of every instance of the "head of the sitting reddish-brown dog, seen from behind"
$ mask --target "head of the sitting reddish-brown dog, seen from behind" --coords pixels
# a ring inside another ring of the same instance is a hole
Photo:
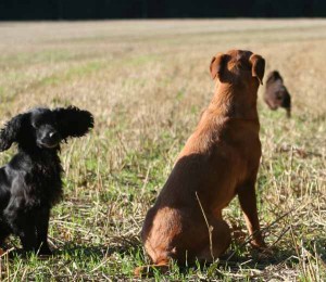
[[[250,84],[258,87],[263,84],[265,60],[250,51],[230,50],[212,59],[210,72],[212,78],[218,78],[222,84]]]

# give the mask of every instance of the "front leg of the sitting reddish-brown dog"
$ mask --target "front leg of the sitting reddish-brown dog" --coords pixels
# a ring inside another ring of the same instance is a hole
[[[238,190],[238,196],[249,234],[252,235],[251,245],[258,248],[266,248],[264,239],[260,232],[254,183],[241,187]]]

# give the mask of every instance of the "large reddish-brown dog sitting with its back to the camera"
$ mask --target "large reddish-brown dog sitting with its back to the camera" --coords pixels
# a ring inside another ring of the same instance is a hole
[[[222,255],[230,244],[222,209],[236,195],[252,245],[265,246],[254,190],[261,157],[256,98],[264,67],[264,59],[250,51],[213,57],[216,92],[145,219],[141,239],[152,267],[165,270],[171,258],[185,264]]]

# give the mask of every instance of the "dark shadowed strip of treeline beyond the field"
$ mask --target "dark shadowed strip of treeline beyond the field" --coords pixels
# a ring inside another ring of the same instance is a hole
[[[0,21],[322,16],[325,0],[0,0]]]

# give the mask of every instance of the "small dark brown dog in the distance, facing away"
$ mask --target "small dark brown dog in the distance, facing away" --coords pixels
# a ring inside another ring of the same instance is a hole
[[[264,100],[271,110],[284,107],[287,116],[291,116],[291,95],[277,70],[271,72],[267,76]]]

